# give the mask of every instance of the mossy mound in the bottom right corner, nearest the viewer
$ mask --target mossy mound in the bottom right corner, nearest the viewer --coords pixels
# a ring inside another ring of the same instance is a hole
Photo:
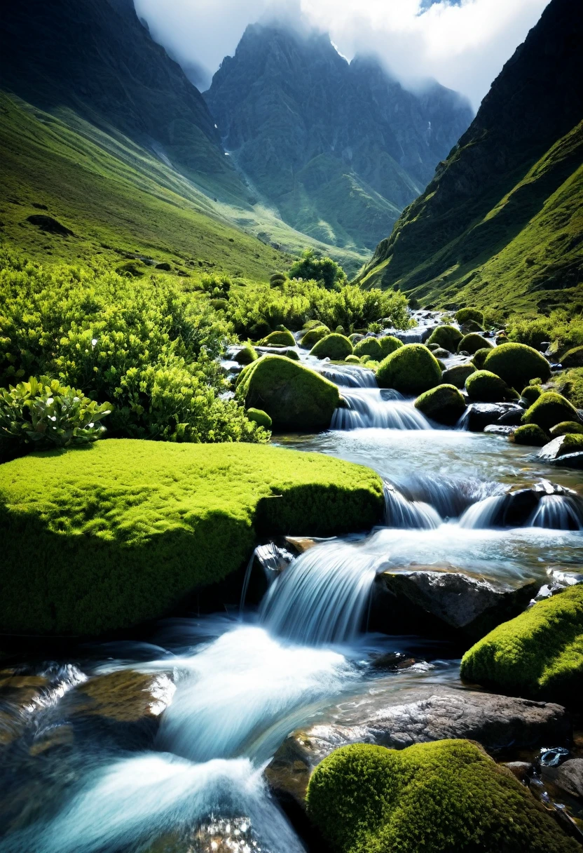
[[[309,780],[308,814],[334,853],[575,853],[528,789],[469,740],[397,751],[354,744]]]

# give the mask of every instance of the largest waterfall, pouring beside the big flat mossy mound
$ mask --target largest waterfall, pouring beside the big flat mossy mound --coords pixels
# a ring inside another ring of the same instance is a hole
[[[378,562],[378,555],[355,543],[310,548],[268,589],[263,624],[309,645],[352,640],[364,621]]]

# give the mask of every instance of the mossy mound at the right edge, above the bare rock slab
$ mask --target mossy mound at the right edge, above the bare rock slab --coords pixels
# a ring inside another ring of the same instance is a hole
[[[539,601],[465,653],[461,675],[511,695],[583,699],[583,585]]]

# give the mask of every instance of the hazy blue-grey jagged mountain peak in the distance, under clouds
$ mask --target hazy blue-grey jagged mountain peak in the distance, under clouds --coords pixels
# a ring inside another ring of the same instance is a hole
[[[470,123],[442,86],[405,90],[325,35],[248,26],[205,99],[250,185],[293,228],[372,249]]]

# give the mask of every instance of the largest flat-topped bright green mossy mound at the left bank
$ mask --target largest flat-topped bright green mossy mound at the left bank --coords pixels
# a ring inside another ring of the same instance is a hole
[[[376,473],[268,445],[110,438],[31,454],[0,466],[0,622],[129,628],[236,571],[259,535],[363,530],[382,512]]]

